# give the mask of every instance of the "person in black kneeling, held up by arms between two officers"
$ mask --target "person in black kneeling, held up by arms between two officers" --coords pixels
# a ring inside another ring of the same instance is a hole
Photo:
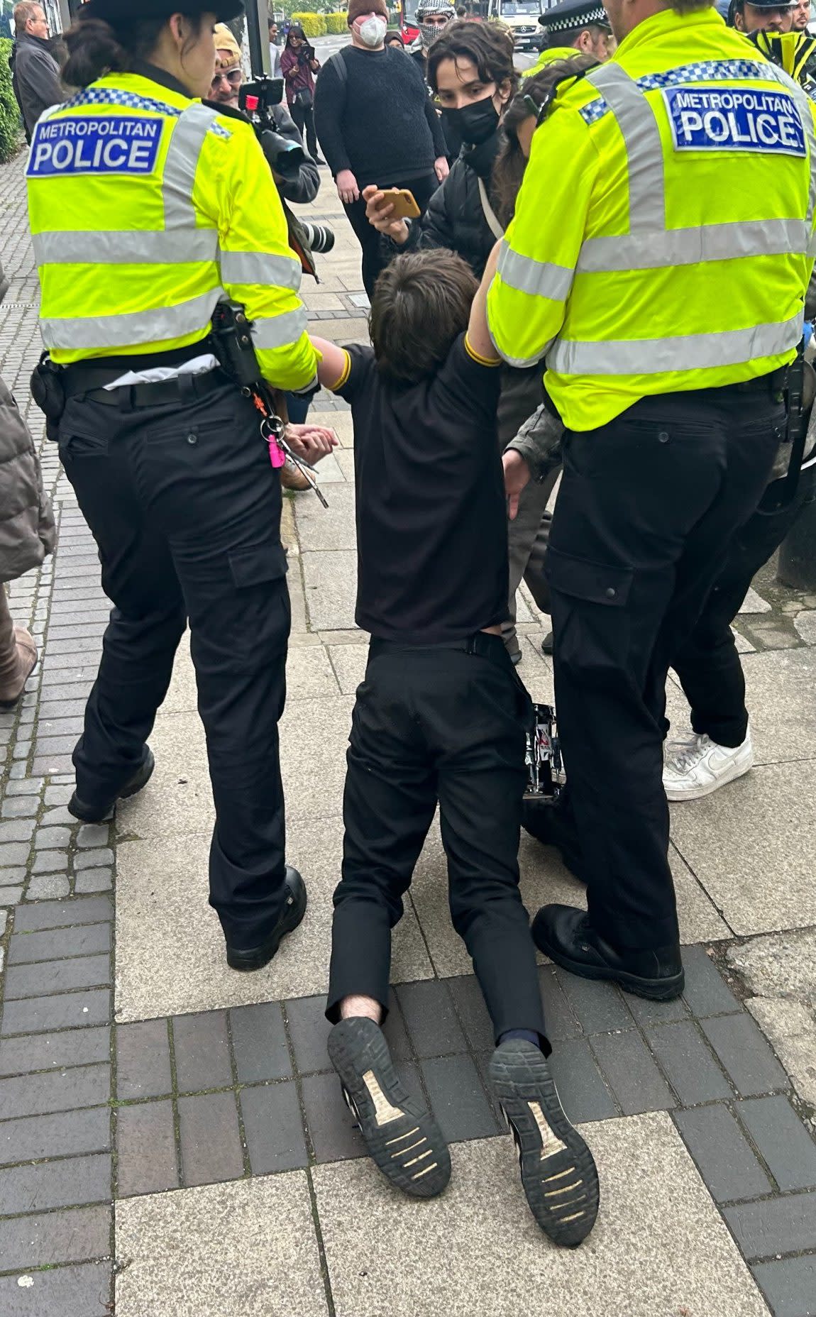
[[[507,535],[499,363],[484,319],[491,278],[488,263],[476,294],[453,253],[400,255],[376,282],[372,348],[315,340],[321,383],[351,404],[357,623],[371,633],[347,753],[328,1047],[380,1172],[412,1197],[441,1193],[445,1138],[400,1080],[380,1029],[391,928],[438,805],[451,918],[492,1021],[490,1076],[524,1192],[541,1230],[575,1246],[595,1222],[598,1172],[550,1077],[519,892],[530,701],[499,626]]]

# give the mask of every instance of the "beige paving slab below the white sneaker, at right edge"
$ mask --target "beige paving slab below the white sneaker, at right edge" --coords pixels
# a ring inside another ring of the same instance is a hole
[[[671,809],[671,836],[736,934],[816,923],[816,814],[809,763],[754,768]]]

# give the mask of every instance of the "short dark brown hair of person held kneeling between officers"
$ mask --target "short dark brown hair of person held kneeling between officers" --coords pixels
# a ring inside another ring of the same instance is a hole
[[[436,374],[470,319],[479,284],[446,248],[397,255],[374,284],[369,328],[380,373],[392,385]]]

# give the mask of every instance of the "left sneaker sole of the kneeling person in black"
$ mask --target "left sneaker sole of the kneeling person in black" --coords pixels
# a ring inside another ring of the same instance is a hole
[[[328,1046],[376,1168],[403,1193],[434,1198],[450,1180],[450,1152],[437,1122],[403,1088],[379,1026],[341,1019]]]

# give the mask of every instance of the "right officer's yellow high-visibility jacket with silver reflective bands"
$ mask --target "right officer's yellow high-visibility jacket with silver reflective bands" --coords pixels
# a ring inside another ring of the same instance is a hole
[[[794,357],[813,263],[802,88],[713,9],[663,11],[559,92],[488,294],[512,365],[546,357],[565,424]]]

